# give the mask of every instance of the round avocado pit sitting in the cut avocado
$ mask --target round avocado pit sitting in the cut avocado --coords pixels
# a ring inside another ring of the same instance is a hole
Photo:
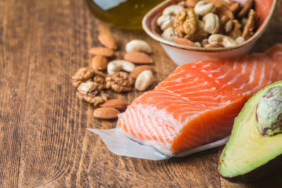
[[[282,132],[282,86],[271,87],[259,99],[257,128],[265,137]]]

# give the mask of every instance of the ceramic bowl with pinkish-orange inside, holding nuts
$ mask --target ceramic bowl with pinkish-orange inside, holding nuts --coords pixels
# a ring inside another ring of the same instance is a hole
[[[142,20],[142,27],[149,37],[156,40],[164,48],[168,56],[177,64],[192,63],[195,61],[216,60],[220,58],[233,58],[247,54],[269,24],[271,15],[274,13],[276,0],[255,0],[255,11],[259,20],[255,35],[237,46],[217,49],[205,49],[183,44],[176,44],[161,37],[161,30],[157,25],[157,18],[164,8],[177,4],[180,0],[167,0],[149,11]],[[245,0],[234,0],[242,3]]]

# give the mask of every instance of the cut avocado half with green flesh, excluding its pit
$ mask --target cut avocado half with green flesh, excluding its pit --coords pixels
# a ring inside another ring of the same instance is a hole
[[[282,86],[282,81],[259,90],[235,119],[231,137],[219,160],[219,173],[231,182],[259,180],[282,168],[282,133],[263,136],[256,117],[259,99],[276,86]]]

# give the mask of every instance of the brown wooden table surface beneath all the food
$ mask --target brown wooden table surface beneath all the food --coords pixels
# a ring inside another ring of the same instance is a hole
[[[86,128],[115,121],[93,118],[75,96],[71,75],[87,66],[99,32],[153,46],[157,82],[176,68],[144,32],[118,30],[94,18],[85,1],[0,1],[0,187],[256,187],[282,186],[282,175],[233,184],[217,171],[223,147],[167,161],[116,156]],[[253,51],[282,42],[282,3]],[[155,84],[157,84],[155,82]],[[151,87],[152,88],[152,87]],[[114,94],[133,101],[141,92]]]

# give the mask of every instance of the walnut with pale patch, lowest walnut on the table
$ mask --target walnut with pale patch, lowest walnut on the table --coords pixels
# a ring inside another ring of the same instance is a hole
[[[96,82],[82,82],[78,87],[78,92],[76,92],[76,95],[79,99],[87,101],[90,104],[94,104],[94,106],[98,106],[109,99],[109,95],[105,94],[104,92],[99,92],[97,87],[99,87],[99,84]]]

